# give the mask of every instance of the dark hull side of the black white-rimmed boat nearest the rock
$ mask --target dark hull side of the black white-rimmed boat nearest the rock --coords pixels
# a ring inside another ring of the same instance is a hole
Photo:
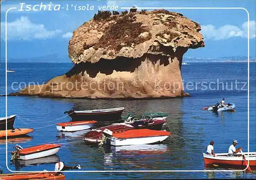
[[[117,121],[121,119],[123,109],[105,113],[76,113],[74,111],[69,116],[72,121]]]

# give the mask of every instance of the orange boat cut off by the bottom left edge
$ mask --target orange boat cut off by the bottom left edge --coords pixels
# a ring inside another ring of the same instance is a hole
[[[36,179],[65,179],[64,174],[57,172],[24,172],[13,174],[0,174],[1,180],[36,180]]]

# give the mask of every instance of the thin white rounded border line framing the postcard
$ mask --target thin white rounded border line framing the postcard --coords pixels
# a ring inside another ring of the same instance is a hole
[[[6,102],[6,117],[7,117],[7,13],[12,10],[12,9],[17,9],[17,8],[9,8],[7,11],[6,11],[6,16],[5,16],[5,69],[6,69],[6,72],[5,72],[5,75],[6,75],[6,79],[5,79],[5,82],[6,82],[6,92],[5,92],[5,102]],[[120,9],[131,9],[131,7],[121,7]],[[250,134],[250,128],[249,128],[249,109],[250,109],[250,104],[249,104],[249,77],[250,77],[250,59],[249,59],[249,54],[250,54],[250,50],[249,50],[249,47],[250,47],[250,38],[249,38],[249,25],[250,25],[250,22],[249,22],[249,12],[247,9],[245,8],[209,8],[209,7],[195,7],[195,8],[192,8],[192,7],[185,7],[185,8],[182,8],[182,7],[155,7],[155,8],[152,8],[152,7],[138,7],[137,9],[242,9],[242,10],[245,10],[247,12],[247,17],[248,17],[248,24],[247,24],[247,53],[248,53],[248,101],[247,101],[247,105],[248,105],[248,112],[247,112],[247,115],[248,115],[248,125],[247,125],[247,130],[248,130],[248,134],[247,134],[247,137],[248,137],[248,141],[247,141],[247,147],[248,147],[248,152],[249,152],[249,134]],[[7,119],[6,119],[6,122],[7,122]],[[7,123],[6,123],[6,126],[7,126]],[[9,169],[8,167],[8,152],[7,152],[7,147],[8,146],[8,141],[7,141],[7,131],[6,131],[6,167],[7,169],[10,171],[10,172],[44,172],[44,171],[12,171],[11,169]],[[249,166],[249,161],[248,161],[248,166]],[[239,171],[245,171],[248,166],[243,169],[243,170],[116,170],[116,171],[110,171],[110,170],[106,170],[106,171],[60,171],[60,172],[239,172]],[[50,172],[50,171],[49,171]]]

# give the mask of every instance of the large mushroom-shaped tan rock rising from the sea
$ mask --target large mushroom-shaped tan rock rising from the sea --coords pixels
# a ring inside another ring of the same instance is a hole
[[[115,15],[113,15],[115,14]],[[101,12],[73,32],[74,67],[46,84],[13,95],[65,98],[183,96],[181,63],[204,47],[200,25],[167,10]]]

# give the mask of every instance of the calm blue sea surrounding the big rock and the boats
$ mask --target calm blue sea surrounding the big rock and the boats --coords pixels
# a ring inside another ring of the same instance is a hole
[[[1,64],[1,94],[5,94],[4,64]],[[8,73],[8,93],[12,92],[14,81],[46,82],[47,80],[66,73],[72,68],[71,63],[9,63],[8,68],[15,73]],[[211,140],[215,141],[215,152],[227,152],[232,139],[239,141],[238,146],[243,151],[247,147],[247,82],[246,63],[190,63],[182,66],[184,84],[193,82],[194,88],[187,86],[185,92],[191,97],[163,100],[85,100],[85,99],[49,99],[38,97],[8,97],[8,115],[17,114],[15,127],[34,128],[31,137],[15,140],[8,144],[8,151],[18,142],[23,147],[42,143],[62,144],[57,155],[45,160],[19,162],[12,165],[8,154],[8,167],[12,170],[53,170],[57,161],[67,165],[80,164],[81,170],[204,170],[202,152]],[[219,80],[218,80],[219,79]],[[237,89],[236,80],[240,82]],[[199,84],[199,82],[201,82]],[[202,84],[202,82],[205,82]],[[211,88],[203,91],[210,82]],[[221,90],[222,83],[225,89]],[[231,88],[233,83],[233,90]],[[15,85],[14,88],[18,86]],[[241,89],[241,90],[240,90]],[[237,105],[235,113],[214,114],[202,110],[202,107],[215,104],[222,98],[226,102]],[[255,63],[250,63],[250,151],[256,151],[255,143]],[[1,116],[5,116],[5,97],[1,97]],[[78,109],[95,109],[124,106],[123,115],[130,111],[144,113],[150,111],[164,111],[169,113],[168,126],[164,129],[172,132],[163,144],[145,146],[127,146],[112,149],[99,149],[81,141],[82,134],[61,133],[53,125],[57,122],[69,121],[63,118],[63,111],[73,106]],[[62,118],[62,119],[60,119]],[[52,125],[52,126],[48,126]],[[48,126],[48,127],[44,127]],[[169,129],[170,128],[170,129]],[[0,166],[8,173],[5,162],[5,141],[0,142]],[[50,162],[50,163],[46,163]],[[40,164],[43,163],[43,164]],[[120,178],[252,178],[252,173],[244,172],[122,172],[122,173],[65,173],[67,179],[120,179]]]

